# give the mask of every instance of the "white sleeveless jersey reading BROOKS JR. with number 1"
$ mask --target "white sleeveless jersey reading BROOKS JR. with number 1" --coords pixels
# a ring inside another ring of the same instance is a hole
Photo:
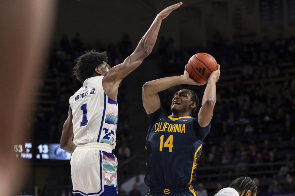
[[[117,101],[106,96],[102,88],[104,76],[90,77],[70,97],[75,145],[102,142],[116,146]]]

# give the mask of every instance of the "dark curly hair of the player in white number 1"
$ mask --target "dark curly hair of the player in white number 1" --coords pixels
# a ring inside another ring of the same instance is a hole
[[[85,54],[75,59],[74,76],[82,83],[94,73],[94,69],[108,61],[107,52],[85,51]]]

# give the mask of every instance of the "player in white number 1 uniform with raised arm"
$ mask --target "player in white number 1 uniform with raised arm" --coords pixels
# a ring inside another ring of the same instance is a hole
[[[112,154],[116,146],[118,87],[151,53],[162,20],[181,5],[161,11],[123,63],[111,68],[106,63],[106,52],[94,50],[76,59],[74,75],[83,86],[70,97],[60,142],[61,149],[73,153],[73,196],[118,195],[117,161]]]

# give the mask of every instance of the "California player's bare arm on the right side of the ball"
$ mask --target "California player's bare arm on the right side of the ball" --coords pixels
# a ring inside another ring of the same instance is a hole
[[[198,113],[198,121],[201,127],[207,126],[213,116],[213,110],[216,103],[216,82],[220,75],[220,65],[218,69],[211,73],[207,80],[207,86],[204,91],[202,107]]]

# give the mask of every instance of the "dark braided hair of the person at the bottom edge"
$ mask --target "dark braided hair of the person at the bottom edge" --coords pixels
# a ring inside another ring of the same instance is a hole
[[[255,184],[255,181],[250,177],[240,177],[235,179],[230,184],[230,188],[234,188],[241,193],[243,192],[243,190],[251,190],[251,196],[253,196],[255,193],[257,194],[257,186]]]

